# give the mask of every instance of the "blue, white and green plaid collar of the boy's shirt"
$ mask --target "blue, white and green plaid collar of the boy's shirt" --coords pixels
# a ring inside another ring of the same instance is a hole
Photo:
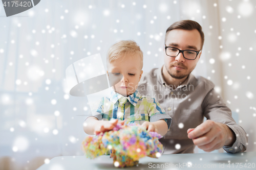
[[[120,98],[126,98],[132,105],[136,106],[140,99],[140,96],[141,95],[137,90],[133,94],[124,97],[122,94],[119,94],[112,89],[110,94],[110,101],[116,103]]]

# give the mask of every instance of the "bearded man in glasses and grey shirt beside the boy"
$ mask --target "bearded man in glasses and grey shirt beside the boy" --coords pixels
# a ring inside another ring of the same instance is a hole
[[[202,53],[204,33],[196,21],[181,20],[166,30],[164,65],[141,78],[138,91],[151,95],[173,118],[164,138],[163,154],[205,152],[223,148],[244,152],[248,137],[214,90],[214,83],[190,74]],[[207,118],[203,122],[204,116]]]

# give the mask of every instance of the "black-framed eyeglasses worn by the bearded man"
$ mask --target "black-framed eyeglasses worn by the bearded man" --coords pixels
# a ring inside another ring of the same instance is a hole
[[[199,52],[194,50],[180,50],[178,48],[165,45],[165,54],[170,57],[177,57],[180,53],[182,53],[185,59],[195,60],[200,52],[201,50]]]

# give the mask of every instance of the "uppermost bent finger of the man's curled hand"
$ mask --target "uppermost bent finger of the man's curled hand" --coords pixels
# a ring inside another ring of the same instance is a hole
[[[194,139],[209,132],[214,122],[206,121],[201,125],[197,126],[193,131],[188,133],[188,138]]]

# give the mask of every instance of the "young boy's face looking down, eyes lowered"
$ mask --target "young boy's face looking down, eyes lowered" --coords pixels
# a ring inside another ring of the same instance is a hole
[[[141,64],[139,54],[127,56],[124,59],[118,59],[110,63],[106,72],[113,85],[112,88],[123,96],[133,94],[142,76]]]

